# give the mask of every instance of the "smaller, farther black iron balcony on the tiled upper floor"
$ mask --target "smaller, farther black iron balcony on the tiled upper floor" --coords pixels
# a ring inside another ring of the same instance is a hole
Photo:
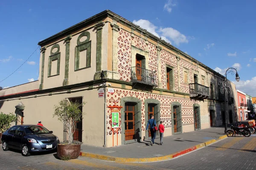
[[[189,94],[190,98],[193,99],[208,99],[209,95],[209,87],[198,83],[190,83],[189,84]]]

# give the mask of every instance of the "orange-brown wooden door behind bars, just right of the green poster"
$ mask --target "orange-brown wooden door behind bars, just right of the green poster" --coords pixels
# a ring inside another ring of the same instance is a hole
[[[125,141],[135,139],[134,110],[131,102],[125,103]]]

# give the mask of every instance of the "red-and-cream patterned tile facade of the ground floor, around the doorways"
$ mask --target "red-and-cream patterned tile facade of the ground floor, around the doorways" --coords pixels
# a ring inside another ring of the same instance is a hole
[[[128,97],[133,96],[142,101],[142,107],[141,107],[141,122],[142,127],[141,130],[145,131],[145,99],[157,99],[160,101],[160,120],[164,122],[164,125],[166,128],[172,127],[172,109],[171,109],[171,103],[172,102],[179,102],[181,104],[181,113],[182,113],[182,125],[194,125],[194,112],[193,112],[193,105],[195,103],[198,103],[201,105],[201,123],[205,123],[209,121],[209,119],[206,118],[208,115],[208,108],[207,108],[207,102],[198,102],[191,99],[185,99],[180,97],[174,97],[174,96],[165,96],[165,95],[157,95],[157,94],[148,94],[145,92],[139,92],[139,91],[130,91],[130,90],[124,90],[124,89],[118,89],[113,88],[114,93],[108,93],[107,89],[107,107],[112,106],[116,103],[116,105],[120,106],[120,99],[122,97]],[[121,119],[121,117],[120,117]],[[108,135],[111,135],[111,111],[108,109],[107,111],[107,129],[108,129]],[[121,122],[121,120],[119,120]],[[120,124],[121,125],[121,124]],[[122,127],[121,127],[122,130]]]

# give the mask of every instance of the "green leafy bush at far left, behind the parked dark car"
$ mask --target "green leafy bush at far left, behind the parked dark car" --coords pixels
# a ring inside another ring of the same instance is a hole
[[[15,122],[17,117],[13,113],[4,114],[0,113],[0,139],[2,138],[2,133],[11,127],[11,123]],[[0,140],[0,143],[2,141]]]

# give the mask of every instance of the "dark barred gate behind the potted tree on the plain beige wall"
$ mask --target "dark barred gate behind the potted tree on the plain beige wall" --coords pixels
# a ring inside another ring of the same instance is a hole
[[[73,102],[73,103],[79,103],[79,109],[83,111],[82,107],[82,102],[83,102],[83,97],[70,97],[67,98],[67,104],[68,102]],[[83,132],[83,117],[81,116],[81,119],[76,122],[75,129],[73,129],[73,143],[81,144],[82,142],[82,132]],[[63,129],[63,141],[68,142],[68,132],[67,132],[67,126],[64,123],[64,129]]]

